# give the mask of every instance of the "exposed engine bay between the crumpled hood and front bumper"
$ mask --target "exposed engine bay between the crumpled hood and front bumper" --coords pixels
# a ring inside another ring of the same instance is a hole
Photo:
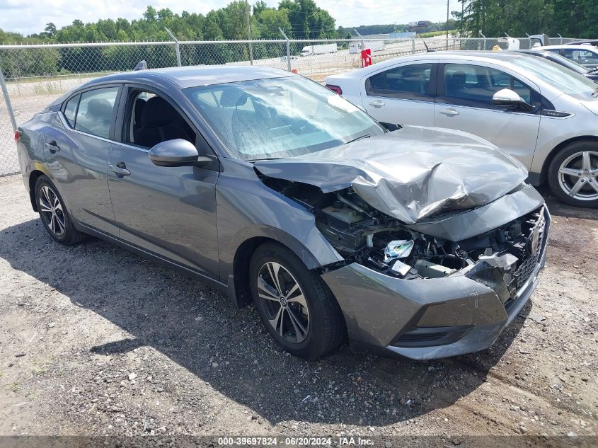
[[[319,231],[345,258],[341,265],[359,263],[406,280],[461,271],[490,287],[500,285],[503,301],[531,275],[527,264],[535,265],[544,233],[539,209],[485,234],[448,241],[409,229],[369,206],[352,188],[323,193],[305,183],[265,176],[262,180],[314,213]]]

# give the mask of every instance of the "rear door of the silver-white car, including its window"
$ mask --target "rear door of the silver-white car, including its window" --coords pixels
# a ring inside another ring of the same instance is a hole
[[[437,64],[406,62],[374,71],[361,80],[369,115],[391,125],[434,125]]]

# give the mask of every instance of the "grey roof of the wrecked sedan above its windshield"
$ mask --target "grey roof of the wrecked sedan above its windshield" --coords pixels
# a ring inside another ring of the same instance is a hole
[[[298,76],[286,70],[272,69],[269,67],[244,67],[233,65],[210,65],[191,67],[168,67],[165,69],[149,69],[126,71],[93,79],[85,84],[86,87],[94,84],[110,82],[135,82],[135,81],[168,81],[178,88],[212,86],[236,81],[250,81],[252,79],[282,78],[284,76]]]

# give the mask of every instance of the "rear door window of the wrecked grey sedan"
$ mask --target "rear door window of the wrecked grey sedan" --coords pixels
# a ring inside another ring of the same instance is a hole
[[[98,88],[81,93],[75,129],[108,139],[118,87]]]

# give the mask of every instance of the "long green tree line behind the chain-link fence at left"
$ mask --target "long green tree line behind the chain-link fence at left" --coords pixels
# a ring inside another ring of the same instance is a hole
[[[248,5],[232,1],[224,8],[200,13],[173,13],[169,8],[156,10],[147,6],[142,18],[100,19],[96,23],[74,20],[57,28],[47,23],[40,33],[21,35],[0,30],[0,44],[52,44],[70,42],[131,42],[172,41],[165,27],[178,40],[246,40],[251,38],[282,39],[280,29],[291,39],[334,39],[350,37],[343,28],[335,28],[335,19],[319,8],[314,0],[281,0],[277,8],[265,1]],[[280,28],[280,29],[279,29]],[[339,35],[339,30],[341,35]],[[255,59],[280,57],[286,54],[284,45],[254,44]],[[297,54],[301,48],[294,48]],[[183,65],[224,64],[248,60],[248,45],[183,45]],[[130,70],[145,59],[150,68],[176,64],[173,45],[48,47],[44,49],[8,50],[0,47],[0,68],[6,78],[52,76],[56,74],[92,73]]]

